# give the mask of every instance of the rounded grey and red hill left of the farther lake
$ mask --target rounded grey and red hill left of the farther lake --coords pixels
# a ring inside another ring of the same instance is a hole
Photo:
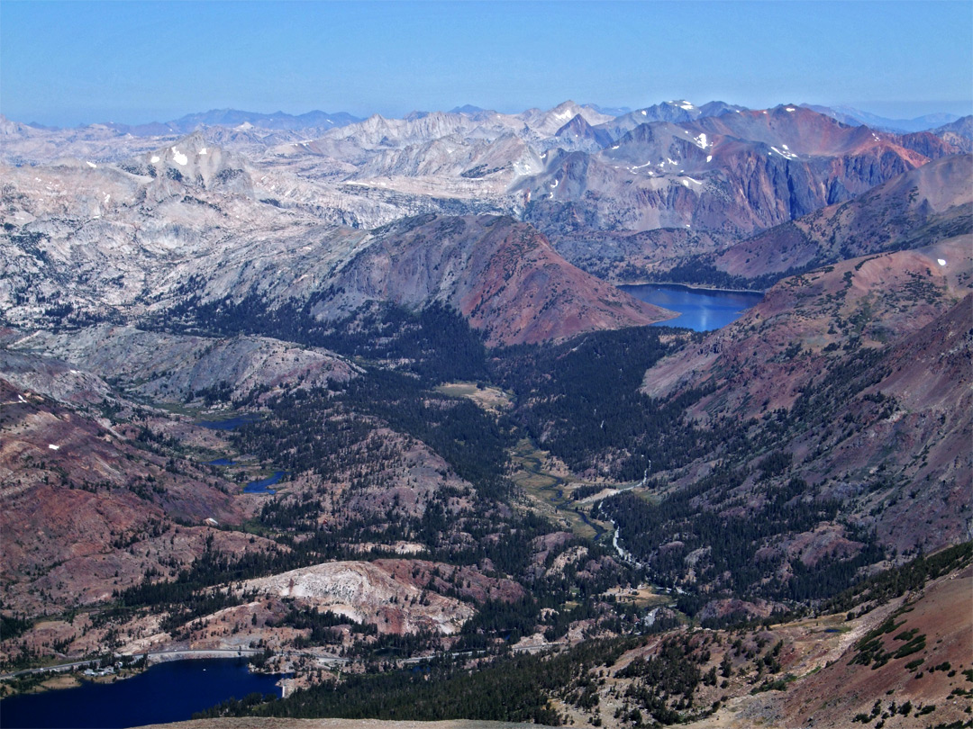
[[[495,216],[424,216],[381,228],[333,281],[318,316],[335,318],[376,300],[409,307],[443,301],[491,345],[670,318],[567,263],[533,227]]]

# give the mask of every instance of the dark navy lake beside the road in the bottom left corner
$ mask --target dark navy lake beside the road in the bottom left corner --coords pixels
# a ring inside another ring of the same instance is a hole
[[[174,661],[116,683],[12,696],[0,701],[4,729],[123,729],[183,721],[250,693],[280,696],[279,676],[251,674],[235,659]]]

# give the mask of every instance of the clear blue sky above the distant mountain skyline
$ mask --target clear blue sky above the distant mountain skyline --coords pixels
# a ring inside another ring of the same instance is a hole
[[[0,112],[56,125],[568,98],[969,114],[971,69],[968,0],[0,2]]]

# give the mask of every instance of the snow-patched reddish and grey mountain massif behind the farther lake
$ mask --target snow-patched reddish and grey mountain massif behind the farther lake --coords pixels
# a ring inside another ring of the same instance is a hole
[[[956,152],[931,134],[906,139],[778,106],[641,124],[595,154],[552,154],[515,189],[532,201],[525,219],[553,235],[689,227],[743,237]]]

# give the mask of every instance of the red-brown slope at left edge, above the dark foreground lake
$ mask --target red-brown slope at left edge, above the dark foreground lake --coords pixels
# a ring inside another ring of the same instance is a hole
[[[201,526],[238,523],[245,505],[221,478],[153,452],[141,428],[107,428],[4,379],[0,401],[7,607],[31,614],[107,600],[150,569],[191,563],[209,535],[228,551],[262,548],[263,539]]]

